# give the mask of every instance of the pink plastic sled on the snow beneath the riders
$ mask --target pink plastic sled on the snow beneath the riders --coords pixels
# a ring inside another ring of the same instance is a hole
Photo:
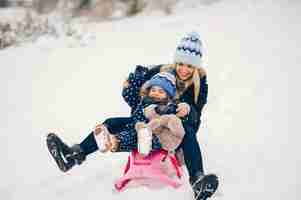
[[[128,157],[123,176],[115,182],[115,188],[122,191],[130,181],[135,180],[154,180],[178,188],[182,185],[181,177],[181,167],[174,154],[162,149],[142,157],[134,150]]]

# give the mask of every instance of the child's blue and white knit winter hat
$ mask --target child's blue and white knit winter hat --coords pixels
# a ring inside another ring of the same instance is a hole
[[[169,72],[160,72],[144,84],[145,89],[153,86],[161,87],[171,98],[176,96],[176,78]]]

